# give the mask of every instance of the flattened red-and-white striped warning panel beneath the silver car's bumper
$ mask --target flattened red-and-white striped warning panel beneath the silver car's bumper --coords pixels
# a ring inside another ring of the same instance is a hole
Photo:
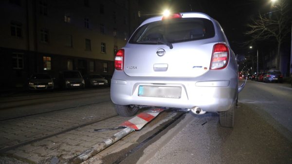
[[[136,115],[135,117],[131,118],[128,121],[125,121],[120,126],[128,127],[134,130],[140,130],[146,125],[148,122],[150,122],[153,118],[155,118],[160,112],[162,112],[164,109],[156,108],[156,109],[149,109],[143,113],[140,113],[139,115]]]

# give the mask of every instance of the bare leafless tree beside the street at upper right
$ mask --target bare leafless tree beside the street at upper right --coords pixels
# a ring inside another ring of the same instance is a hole
[[[280,48],[285,37],[290,33],[290,8],[284,0],[274,5],[274,11],[267,14],[258,14],[256,19],[248,25],[250,30],[245,34],[252,37],[250,42],[258,42],[274,38],[277,42],[276,68],[280,69]]]

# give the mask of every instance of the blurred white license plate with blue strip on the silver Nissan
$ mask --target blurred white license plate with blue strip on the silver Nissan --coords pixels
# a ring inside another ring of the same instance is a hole
[[[181,98],[182,87],[177,86],[139,86],[138,96],[156,98]]]

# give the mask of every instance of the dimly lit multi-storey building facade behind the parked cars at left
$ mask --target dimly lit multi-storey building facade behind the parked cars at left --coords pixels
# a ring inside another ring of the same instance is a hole
[[[33,73],[112,74],[114,56],[138,26],[137,0],[1,0],[0,87]]]

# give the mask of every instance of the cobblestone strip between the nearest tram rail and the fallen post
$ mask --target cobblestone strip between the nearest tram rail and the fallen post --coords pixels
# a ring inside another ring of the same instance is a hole
[[[94,129],[109,128],[109,123],[110,126],[118,126],[125,119],[127,118],[115,116],[83,128],[9,150],[5,153],[9,154],[14,160],[17,159],[29,163],[50,164],[54,158],[58,159],[59,163],[64,163],[118,131],[96,132]]]

